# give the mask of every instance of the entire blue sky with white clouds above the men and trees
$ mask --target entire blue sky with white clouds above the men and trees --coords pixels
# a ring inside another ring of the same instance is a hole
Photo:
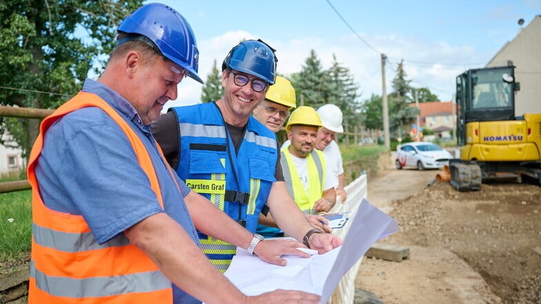
[[[220,68],[242,39],[262,39],[275,48],[277,72],[302,70],[314,50],[322,68],[333,55],[359,85],[360,101],[382,95],[381,54],[386,92],[403,59],[406,79],[429,88],[440,101],[451,101],[455,77],[482,68],[541,14],[541,0],[156,0],[175,8],[195,33],[199,76],[206,80],[214,61]],[[518,24],[524,19],[524,24]],[[506,65],[502,63],[502,65]],[[199,103],[202,85],[179,84],[171,106]],[[298,101],[297,101],[298,103]]]

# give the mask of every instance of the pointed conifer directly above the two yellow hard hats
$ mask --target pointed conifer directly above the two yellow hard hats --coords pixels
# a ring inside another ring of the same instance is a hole
[[[297,105],[304,104],[318,108],[319,105],[325,104],[328,75],[323,70],[315,50],[310,51],[310,56],[304,61],[301,71],[292,74],[290,81],[295,88]]]

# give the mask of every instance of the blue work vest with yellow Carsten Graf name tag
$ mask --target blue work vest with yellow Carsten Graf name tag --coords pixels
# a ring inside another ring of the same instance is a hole
[[[235,154],[233,140],[215,103],[173,110],[180,136],[177,174],[192,190],[255,232],[259,212],[276,181],[275,134],[250,116],[239,152]],[[210,261],[225,271],[236,252],[235,245],[201,232],[199,241]]]

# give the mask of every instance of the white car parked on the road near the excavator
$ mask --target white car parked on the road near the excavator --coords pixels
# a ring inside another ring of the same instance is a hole
[[[443,168],[453,159],[451,153],[435,143],[417,141],[396,147],[396,168],[417,167],[418,170]]]

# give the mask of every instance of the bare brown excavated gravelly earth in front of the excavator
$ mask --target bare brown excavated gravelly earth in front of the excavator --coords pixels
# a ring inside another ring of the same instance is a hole
[[[391,205],[406,240],[451,250],[503,303],[541,303],[539,186],[492,183],[456,192],[449,183],[435,183]]]

